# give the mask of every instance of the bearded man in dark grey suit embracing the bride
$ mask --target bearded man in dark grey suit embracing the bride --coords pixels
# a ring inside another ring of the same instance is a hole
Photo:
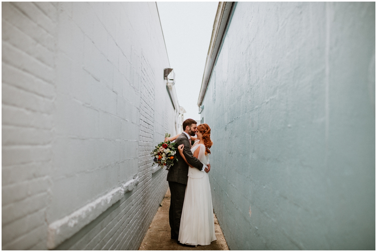
[[[175,140],[177,147],[184,144],[183,155],[185,156],[187,162],[193,167],[202,170],[204,164],[195,158],[191,152],[191,138],[190,136],[195,136],[196,131],[196,121],[193,119],[187,119],[183,122],[183,132]],[[169,208],[169,224],[171,229],[171,238],[178,239],[179,225],[181,223],[181,215],[183,208],[183,201],[185,198],[185,190],[187,185],[187,175],[189,173],[189,165],[186,164],[184,159],[179,155],[177,150],[176,157],[178,162],[174,162],[174,165],[170,167],[167,173],[167,181],[169,181],[170,188],[170,208]],[[211,169],[210,164],[208,164],[208,169],[205,168],[205,172],[209,172]],[[177,243],[179,243],[177,241]]]

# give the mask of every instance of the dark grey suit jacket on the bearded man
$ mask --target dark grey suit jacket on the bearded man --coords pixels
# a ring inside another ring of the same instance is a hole
[[[191,164],[193,167],[202,170],[204,164],[199,161],[199,159],[195,158],[192,155],[190,150],[190,142],[187,136],[182,132],[182,134],[175,140],[177,143],[177,147],[181,144],[184,144],[183,148],[183,155],[185,156],[187,162]],[[189,178],[187,175],[189,174],[189,165],[186,164],[184,159],[179,155],[177,150],[176,156],[178,158],[178,162],[175,161],[174,165],[170,167],[169,172],[167,173],[167,181],[178,182],[181,184],[187,185],[187,179]]]

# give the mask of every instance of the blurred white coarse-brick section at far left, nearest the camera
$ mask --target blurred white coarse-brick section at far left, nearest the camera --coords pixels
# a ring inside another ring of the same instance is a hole
[[[56,27],[56,8],[46,16],[40,7],[48,5],[2,4],[3,249],[46,246]]]

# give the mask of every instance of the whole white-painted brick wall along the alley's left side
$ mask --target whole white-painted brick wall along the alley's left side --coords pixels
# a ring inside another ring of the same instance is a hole
[[[167,190],[149,153],[175,134],[155,3],[2,3],[2,49],[2,248],[47,249],[51,223],[138,176],[58,247],[137,249]]]

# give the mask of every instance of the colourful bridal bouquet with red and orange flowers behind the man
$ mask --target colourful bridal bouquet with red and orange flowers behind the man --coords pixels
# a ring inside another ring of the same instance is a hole
[[[166,137],[170,137],[170,134],[166,133]],[[166,166],[166,170],[169,170],[174,165],[174,160],[178,161],[175,156],[176,151],[176,143],[171,143],[170,141],[159,143],[150,153],[153,158],[153,164],[158,164],[161,168]]]

